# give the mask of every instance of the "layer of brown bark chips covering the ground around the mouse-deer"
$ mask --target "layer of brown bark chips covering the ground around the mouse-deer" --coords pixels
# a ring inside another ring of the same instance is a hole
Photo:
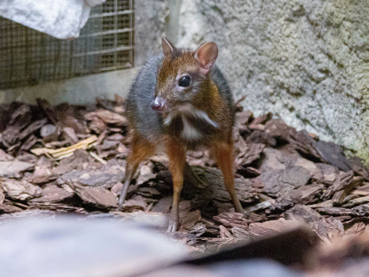
[[[121,208],[117,199],[129,149],[124,99],[96,105],[1,105],[0,218],[35,209],[57,212],[168,213],[172,180],[164,156],[141,163]],[[207,152],[187,161],[202,180],[187,180],[178,238],[250,240],[279,232],[282,222],[308,224],[321,239],[368,228],[369,170],[359,158],[272,114],[238,107],[235,187],[248,216],[234,212],[221,171]],[[221,242],[223,241],[223,242]]]

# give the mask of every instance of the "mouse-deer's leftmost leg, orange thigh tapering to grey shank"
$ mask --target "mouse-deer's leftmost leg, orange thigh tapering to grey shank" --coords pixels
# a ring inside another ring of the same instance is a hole
[[[123,188],[119,196],[118,205],[122,206],[127,197],[128,187],[130,186],[133,175],[135,174],[140,162],[147,157],[154,155],[155,146],[149,141],[142,138],[141,135],[134,133],[131,142],[131,152],[127,157],[127,165],[125,167],[125,177],[123,180]]]

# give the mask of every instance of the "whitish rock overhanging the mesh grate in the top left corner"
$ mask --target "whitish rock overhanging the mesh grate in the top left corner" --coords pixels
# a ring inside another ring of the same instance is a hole
[[[91,7],[105,0],[2,0],[0,16],[65,39],[79,36]]]

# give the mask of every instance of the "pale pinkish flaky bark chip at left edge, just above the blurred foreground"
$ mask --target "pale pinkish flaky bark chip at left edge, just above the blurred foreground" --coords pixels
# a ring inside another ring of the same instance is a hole
[[[42,193],[42,189],[34,186],[25,180],[0,179],[0,186],[3,187],[6,195],[12,199],[27,200],[38,197]]]

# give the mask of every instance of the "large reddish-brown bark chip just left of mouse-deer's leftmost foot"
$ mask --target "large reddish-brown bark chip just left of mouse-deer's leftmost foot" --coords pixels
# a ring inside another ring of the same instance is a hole
[[[103,208],[117,207],[118,197],[102,187],[75,186],[77,195],[85,203]]]

